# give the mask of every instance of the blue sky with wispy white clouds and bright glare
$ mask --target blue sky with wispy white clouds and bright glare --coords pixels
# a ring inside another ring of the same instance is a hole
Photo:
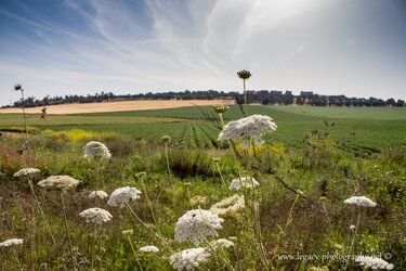
[[[0,105],[248,89],[406,99],[406,0],[0,0]]]

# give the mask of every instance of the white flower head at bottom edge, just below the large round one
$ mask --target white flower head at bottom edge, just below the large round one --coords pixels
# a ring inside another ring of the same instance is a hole
[[[169,258],[173,269],[192,270],[206,262],[210,257],[210,253],[205,247],[196,247],[182,250]]]

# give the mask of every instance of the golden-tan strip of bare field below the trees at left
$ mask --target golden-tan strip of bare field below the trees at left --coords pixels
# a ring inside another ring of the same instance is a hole
[[[234,100],[185,100],[185,101],[122,101],[104,103],[75,103],[50,105],[47,107],[47,114],[65,115],[80,113],[101,113],[101,112],[121,112],[121,111],[150,111],[162,108],[176,108],[194,105],[213,105],[213,104],[233,104]],[[26,108],[28,114],[41,114],[41,107]],[[22,113],[21,108],[0,108],[1,113]]]

